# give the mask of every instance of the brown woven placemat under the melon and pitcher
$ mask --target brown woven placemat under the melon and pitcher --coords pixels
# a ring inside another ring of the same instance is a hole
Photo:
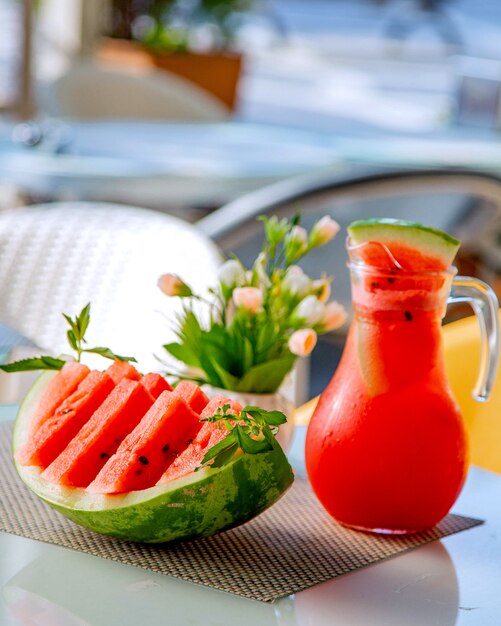
[[[36,498],[11,460],[11,426],[0,425],[0,529],[142,567],[193,583],[271,602],[482,522],[448,515],[427,532],[383,537],[336,524],[307,481],[268,511],[207,539],[149,546],[92,533]]]

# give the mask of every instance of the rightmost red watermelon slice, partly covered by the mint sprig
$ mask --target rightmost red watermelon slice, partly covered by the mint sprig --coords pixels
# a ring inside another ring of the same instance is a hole
[[[200,419],[204,417],[211,417],[215,415],[217,410],[225,404],[230,405],[230,411],[235,414],[239,414],[242,410],[242,405],[234,400],[228,399],[226,396],[218,395],[211,398],[205,409],[200,415]],[[228,431],[222,424],[215,422],[203,422],[202,428],[198,431],[197,436],[193,439],[192,443],[181,452],[181,454],[169,465],[167,471],[162,474],[157,484],[165,483],[169,480],[175,480],[186,476],[195,471],[200,465],[206,452],[216,443],[222,441]]]

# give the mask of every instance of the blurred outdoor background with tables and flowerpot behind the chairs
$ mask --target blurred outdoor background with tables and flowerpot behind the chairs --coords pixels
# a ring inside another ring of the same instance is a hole
[[[230,203],[223,220],[248,229],[249,207],[273,210],[275,192],[252,195],[270,184],[471,171],[440,198],[404,181],[397,199],[328,197],[309,219],[427,221],[499,293],[500,41],[498,0],[0,0],[0,210],[132,204],[222,245],[204,220]],[[222,247],[249,261],[245,233]],[[310,273],[343,274],[338,248]]]

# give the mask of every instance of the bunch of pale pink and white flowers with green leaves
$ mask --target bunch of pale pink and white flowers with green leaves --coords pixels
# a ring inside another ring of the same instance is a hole
[[[299,216],[259,219],[265,241],[254,264],[246,270],[238,258],[227,260],[209,299],[175,274],[159,278],[164,294],[184,300],[177,341],[163,347],[187,370],[169,374],[236,392],[274,393],[317,336],[344,323],[343,306],[328,302],[332,279],[313,280],[297,265],[335,237],[337,222],[325,216],[307,232]],[[195,313],[195,302],[207,307],[208,323]]]

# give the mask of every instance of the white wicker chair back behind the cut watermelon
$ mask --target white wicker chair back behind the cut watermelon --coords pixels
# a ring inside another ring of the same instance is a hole
[[[179,306],[160,293],[158,276],[175,272],[203,291],[218,265],[217,247],[196,228],[147,209],[63,202],[6,211],[0,322],[43,352],[67,352],[61,313],[74,315],[91,302],[89,344],[158,369],[155,353],[173,339],[166,317]]]

